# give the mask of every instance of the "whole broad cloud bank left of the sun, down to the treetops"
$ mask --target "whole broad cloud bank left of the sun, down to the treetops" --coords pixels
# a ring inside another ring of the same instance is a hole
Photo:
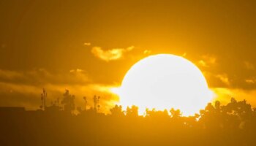
[[[71,69],[61,74],[48,72],[45,69],[23,72],[0,70],[0,79],[0,106],[18,106],[37,110],[42,88],[48,92],[48,105],[58,98],[61,100],[66,89],[76,96],[75,101],[78,107],[83,107],[83,96],[88,97],[88,104],[91,107],[93,96],[101,96],[102,112],[108,112],[109,107],[118,102],[118,97],[110,91],[114,85],[94,83],[83,69]]]

